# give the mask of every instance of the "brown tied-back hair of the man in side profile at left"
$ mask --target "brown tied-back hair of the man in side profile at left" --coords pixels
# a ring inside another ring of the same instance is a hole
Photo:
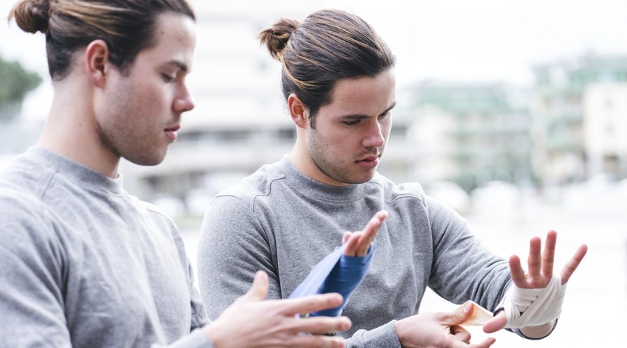
[[[50,77],[61,80],[75,51],[98,39],[125,72],[142,49],[154,45],[157,17],[166,12],[195,20],[186,0],[20,0],[8,19],[23,31],[45,33]]]

